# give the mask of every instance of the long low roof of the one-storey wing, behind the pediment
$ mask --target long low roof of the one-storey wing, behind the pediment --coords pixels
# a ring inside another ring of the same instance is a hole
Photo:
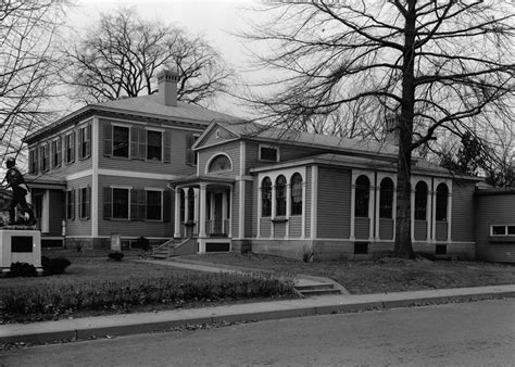
[[[398,154],[398,147],[388,143],[377,143],[370,140],[348,139],[321,134],[281,129],[278,127],[268,127],[241,119],[236,121],[234,117],[231,119],[216,119],[204,131],[204,135],[206,135],[208,130],[211,130],[216,124],[226,128],[228,131],[241,139],[250,138],[276,143],[279,142],[304,145],[309,148],[321,148],[326,150],[332,149],[348,153],[359,152],[365,153],[367,155],[381,154],[397,157]],[[202,138],[198,140],[198,143],[200,143],[201,140]],[[197,145],[193,148],[197,148]]]

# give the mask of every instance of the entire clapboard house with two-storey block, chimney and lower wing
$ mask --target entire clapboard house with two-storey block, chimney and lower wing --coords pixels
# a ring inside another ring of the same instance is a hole
[[[393,250],[395,145],[264,128],[178,102],[176,83],[163,72],[156,94],[88,105],[25,139],[43,246],[143,236],[163,256]],[[515,205],[497,207],[515,197],[478,193],[479,180],[413,160],[415,252],[514,261]]]

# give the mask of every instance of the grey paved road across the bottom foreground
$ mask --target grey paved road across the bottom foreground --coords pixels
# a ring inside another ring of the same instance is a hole
[[[397,308],[7,351],[1,366],[513,366],[515,300]]]

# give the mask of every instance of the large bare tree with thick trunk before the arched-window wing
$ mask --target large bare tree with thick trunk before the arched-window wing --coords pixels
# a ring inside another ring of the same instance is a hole
[[[504,9],[506,7],[507,9]],[[485,116],[513,122],[514,12],[499,1],[325,1],[276,4],[244,35],[273,45],[258,65],[280,77],[248,97],[261,118],[286,128],[342,114],[399,136],[395,255],[413,255],[412,154],[440,136],[475,129]],[[353,123],[356,121],[354,119]],[[346,121],[339,121],[346,124]],[[363,129],[363,128],[362,128]]]

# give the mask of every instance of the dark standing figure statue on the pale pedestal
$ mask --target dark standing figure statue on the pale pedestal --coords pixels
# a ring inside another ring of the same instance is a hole
[[[32,205],[29,204],[30,189],[25,182],[22,173],[16,168],[16,160],[12,156],[8,157],[5,161],[5,167],[8,168],[8,172],[5,173],[3,180],[7,181],[8,185],[4,188],[11,188],[12,190],[12,199],[8,205],[9,222],[7,225],[35,226],[37,224],[37,219],[34,215]],[[16,220],[15,217],[16,206],[23,214],[21,222]],[[27,219],[25,218],[25,215],[28,215]]]

